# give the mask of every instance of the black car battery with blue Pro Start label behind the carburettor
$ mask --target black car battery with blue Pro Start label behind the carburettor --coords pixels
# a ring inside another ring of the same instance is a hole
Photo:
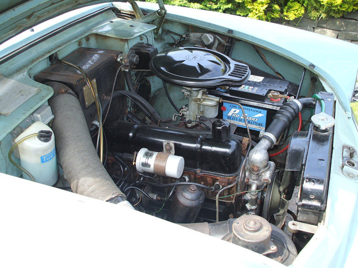
[[[252,73],[255,70],[251,69]],[[298,85],[287,80],[278,79],[271,74],[251,75],[250,79],[240,87],[217,88],[210,90],[210,95],[222,98],[219,104],[217,118],[226,119],[232,126],[236,126],[235,134],[248,136],[245,125],[241,104],[247,117],[250,133],[253,140],[258,141],[261,131],[265,131],[270,126],[274,115],[286,102],[286,99],[271,99],[268,94],[271,91],[279,92],[282,95],[294,96],[298,90]],[[267,77],[266,77],[267,76]]]

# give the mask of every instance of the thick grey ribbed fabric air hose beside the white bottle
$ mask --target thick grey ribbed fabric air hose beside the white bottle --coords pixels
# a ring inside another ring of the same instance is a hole
[[[59,160],[72,190],[86,197],[133,208],[99,160],[76,95],[60,83],[47,85],[55,91],[49,101],[55,115],[52,130]]]

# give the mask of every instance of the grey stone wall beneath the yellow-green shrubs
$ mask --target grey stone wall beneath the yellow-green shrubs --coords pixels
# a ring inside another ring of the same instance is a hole
[[[290,21],[277,19],[272,22],[358,44],[358,11],[348,13],[342,18],[313,20],[308,14],[304,14],[302,18]]]

